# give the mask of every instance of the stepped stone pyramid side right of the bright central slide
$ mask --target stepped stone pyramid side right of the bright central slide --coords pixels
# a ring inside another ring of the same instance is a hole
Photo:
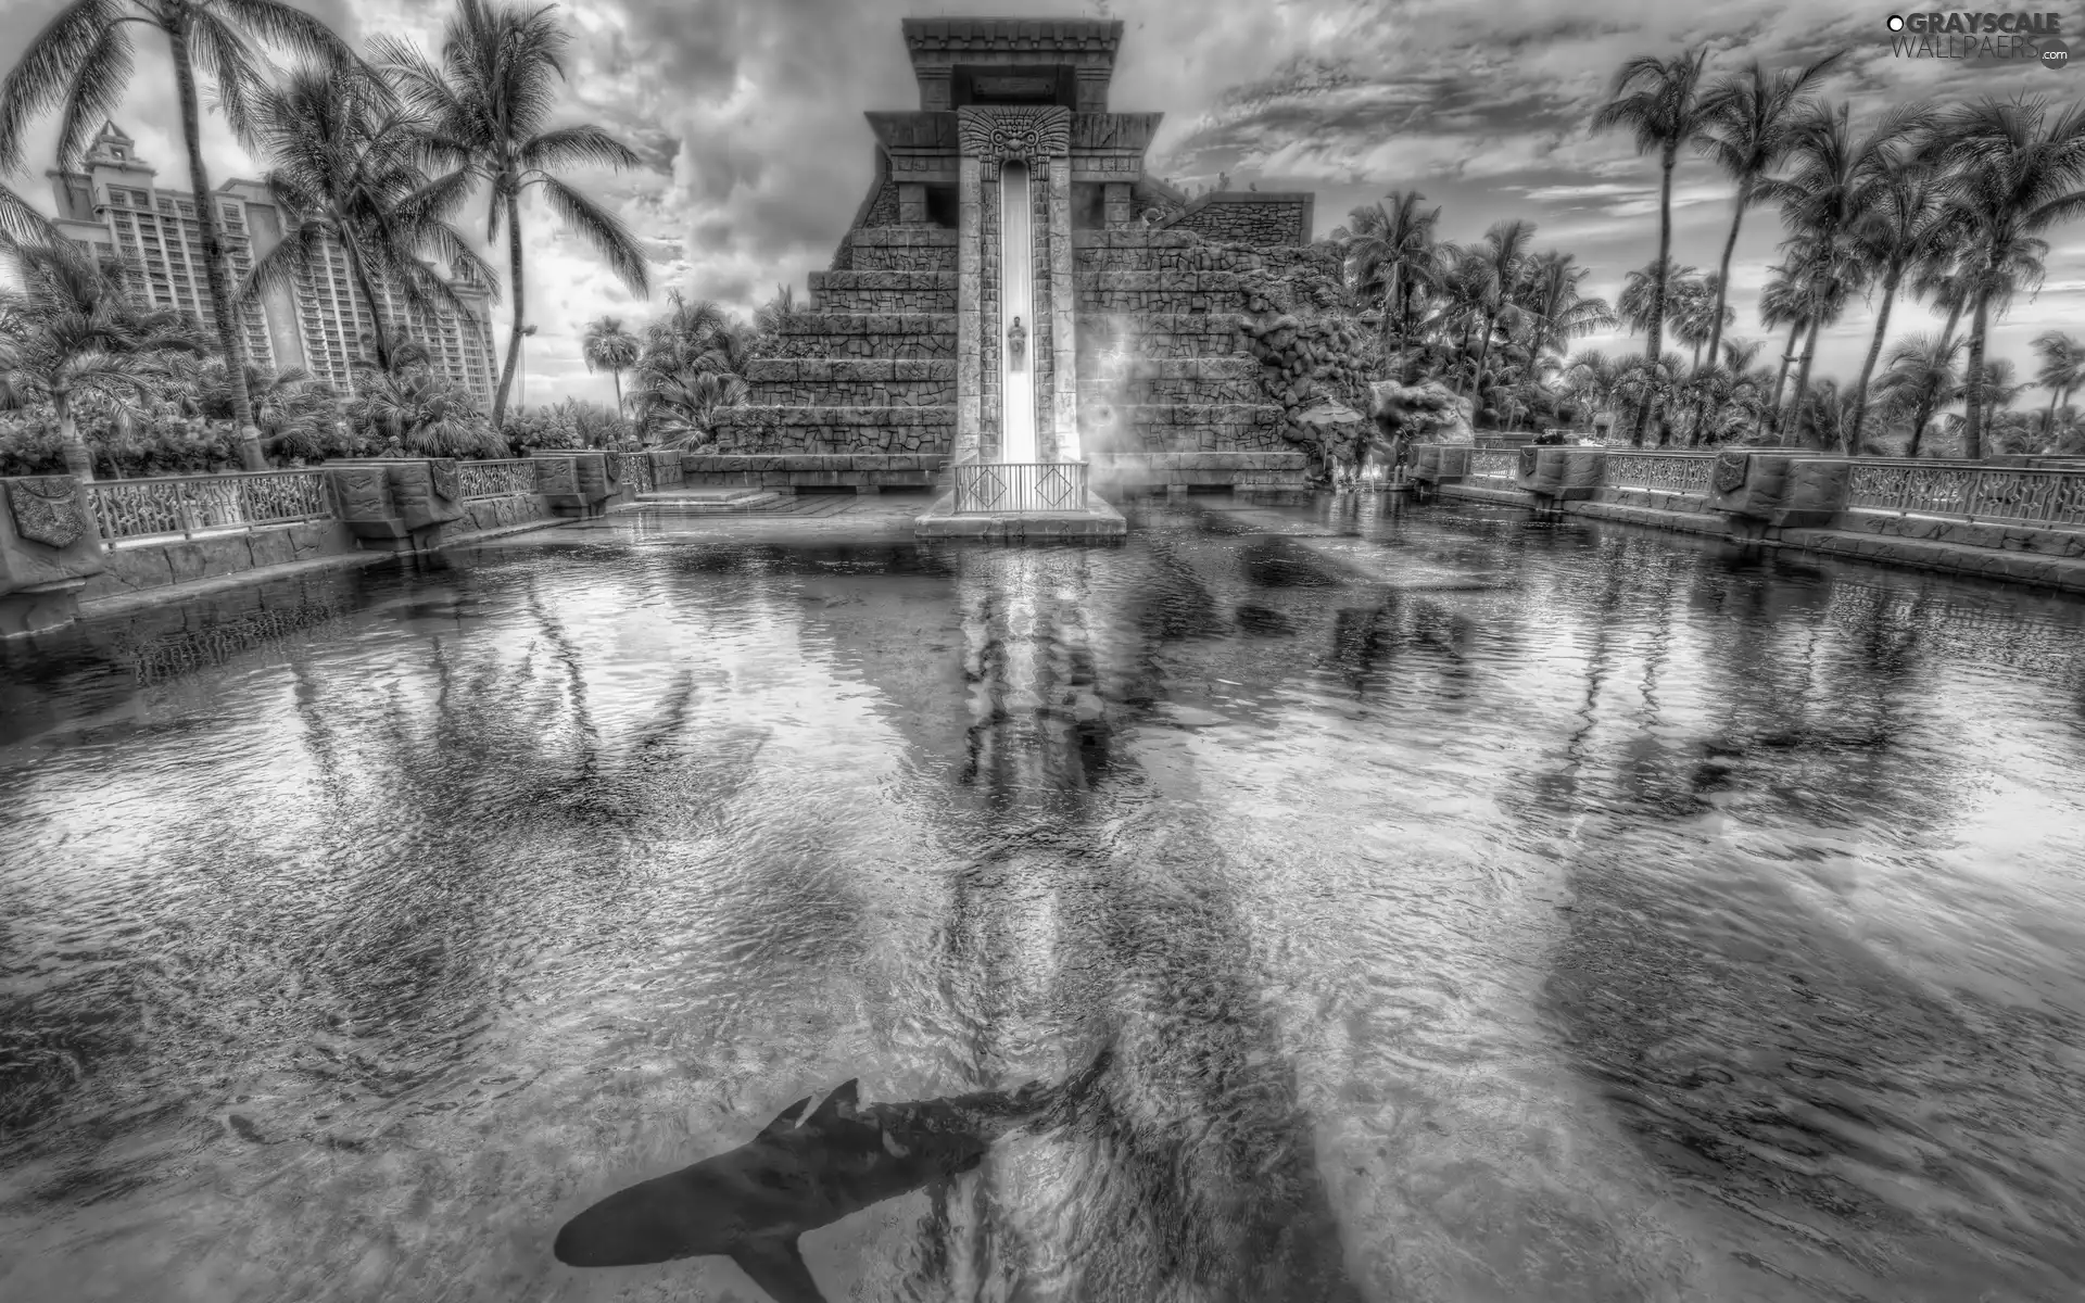
[[[1076,231],[1078,407],[1097,482],[1293,488],[1245,325],[1264,261],[1184,231]]]

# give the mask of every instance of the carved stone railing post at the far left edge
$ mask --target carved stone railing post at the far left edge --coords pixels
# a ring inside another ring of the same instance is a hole
[[[0,480],[0,638],[60,630],[108,567],[85,486],[73,475]]]

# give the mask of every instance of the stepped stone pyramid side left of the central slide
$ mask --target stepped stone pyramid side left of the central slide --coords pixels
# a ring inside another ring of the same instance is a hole
[[[945,227],[853,231],[851,267],[811,273],[811,306],[746,365],[746,404],[686,482],[932,488],[955,446],[955,248]]]

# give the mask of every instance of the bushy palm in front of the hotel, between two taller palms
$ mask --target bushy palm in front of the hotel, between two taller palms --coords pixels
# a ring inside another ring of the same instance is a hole
[[[281,242],[238,288],[240,302],[323,271],[338,248],[369,306],[377,369],[392,369],[398,342],[384,309],[396,290],[407,311],[448,306],[473,319],[427,265],[434,259],[480,284],[496,284],[448,215],[469,194],[463,171],[430,181],[419,167],[425,123],[361,63],[306,65],[254,96],[248,144],[271,161],[267,190],[286,217]]]

